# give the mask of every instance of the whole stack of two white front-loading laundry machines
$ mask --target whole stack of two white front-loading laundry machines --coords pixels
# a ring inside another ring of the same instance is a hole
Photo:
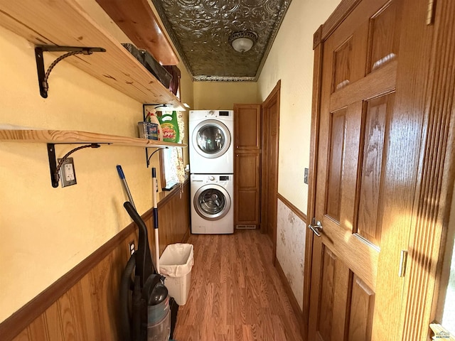
[[[234,233],[233,110],[191,110],[191,232]]]

